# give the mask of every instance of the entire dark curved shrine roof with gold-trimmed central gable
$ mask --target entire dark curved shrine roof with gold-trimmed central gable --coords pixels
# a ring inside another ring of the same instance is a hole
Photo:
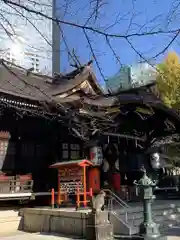
[[[104,95],[88,64],[67,75],[55,78],[27,74],[27,70],[0,64],[1,93],[40,102],[52,101],[63,105],[65,109],[72,109],[72,115],[69,114],[68,117],[75,116],[72,118],[74,125],[78,125],[78,129],[84,128],[84,132],[88,127],[84,127],[86,124],[83,125],[83,121],[88,122],[88,126],[93,125],[93,131],[101,131],[104,126],[108,126],[109,131],[116,131],[126,126],[130,129],[129,126],[132,125],[130,131],[134,134],[134,131],[144,133],[144,129],[148,127],[148,131],[152,132],[150,138],[156,138],[166,131],[166,119],[175,125],[170,130],[171,133],[174,129],[180,132],[180,117],[150,91],[151,87],[152,84],[116,95]],[[153,114],[147,116],[146,113],[139,113],[136,111],[139,106],[152,109]],[[48,108],[48,111],[51,110]],[[52,111],[57,112],[57,109],[53,108]],[[91,121],[92,118],[94,122]],[[100,118],[102,121],[99,121]],[[132,118],[137,121],[132,122]],[[170,135],[170,131],[167,130],[167,134]]]

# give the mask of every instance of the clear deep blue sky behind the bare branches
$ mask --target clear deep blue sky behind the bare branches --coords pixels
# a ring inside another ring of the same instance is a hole
[[[106,30],[107,32],[121,35],[127,33],[157,31],[160,29],[176,29],[179,26],[180,7],[178,6],[178,1],[176,2],[175,0],[101,1],[106,4],[100,9],[98,20],[95,22],[93,18],[89,21],[87,26],[101,28],[102,30],[109,27],[109,29]],[[57,5],[60,7],[60,12],[58,14],[60,14],[61,18],[63,17],[64,20],[84,24],[93,12],[93,4],[90,4],[90,0],[69,0],[70,3],[68,4],[68,8],[67,5],[65,6],[65,2],[67,2],[67,0],[64,0],[64,2],[62,0],[57,0]],[[65,8],[67,9],[66,14],[64,14]],[[119,21],[117,24],[113,25],[116,19]],[[79,60],[82,63],[89,61],[92,58],[92,53],[83,31],[65,25],[62,25],[62,29],[69,48],[75,49]],[[120,64],[117,63],[105,37],[90,31],[87,33],[103,75],[108,77],[117,73]],[[138,52],[154,63],[161,61],[164,57],[164,55],[160,55],[157,59],[153,59],[153,57],[161,52],[170,42],[172,36],[172,34],[163,34],[156,36],[133,37],[129,38],[129,40]],[[122,64],[134,64],[141,60],[125,39],[113,38],[109,40],[114,51],[120,57]],[[65,46],[63,42],[61,43],[61,49],[61,71],[68,71],[68,57],[66,51],[64,51]],[[169,50],[179,53],[178,39],[173,45],[171,45]],[[99,82],[103,84],[103,77],[98,71],[95,61],[93,68]]]

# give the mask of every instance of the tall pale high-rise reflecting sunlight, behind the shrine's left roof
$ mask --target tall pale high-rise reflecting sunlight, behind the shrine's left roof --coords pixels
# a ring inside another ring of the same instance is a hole
[[[18,0],[20,5],[56,17],[56,0]],[[10,62],[52,75],[60,69],[60,31],[40,14],[0,2],[0,56]]]

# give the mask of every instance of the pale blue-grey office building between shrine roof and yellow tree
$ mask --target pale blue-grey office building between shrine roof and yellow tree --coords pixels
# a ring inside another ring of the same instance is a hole
[[[117,74],[106,79],[107,90],[116,93],[127,90],[156,80],[156,71],[148,63],[123,66]]]

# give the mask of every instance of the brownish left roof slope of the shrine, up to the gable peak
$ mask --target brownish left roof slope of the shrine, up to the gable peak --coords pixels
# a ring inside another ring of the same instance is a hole
[[[91,82],[95,92],[102,93],[90,66],[84,66],[67,75],[51,78],[29,73],[19,67],[0,64],[0,92],[38,101],[53,100],[53,96],[68,93],[85,80]]]

